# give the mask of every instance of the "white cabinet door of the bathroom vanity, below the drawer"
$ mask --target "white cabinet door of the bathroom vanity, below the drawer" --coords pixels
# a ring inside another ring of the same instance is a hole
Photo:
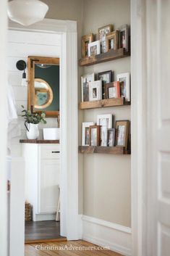
[[[41,160],[38,213],[56,212],[59,199],[59,160]]]

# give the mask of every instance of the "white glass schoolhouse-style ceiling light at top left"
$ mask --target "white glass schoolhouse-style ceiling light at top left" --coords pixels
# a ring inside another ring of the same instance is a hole
[[[48,5],[39,0],[13,0],[7,12],[10,20],[28,26],[44,19]]]

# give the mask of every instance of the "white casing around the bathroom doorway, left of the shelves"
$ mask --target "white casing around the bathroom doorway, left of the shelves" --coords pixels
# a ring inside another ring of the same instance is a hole
[[[61,35],[61,236],[78,239],[77,22],[45,19],[28,28],[9,22],[9,29]]]

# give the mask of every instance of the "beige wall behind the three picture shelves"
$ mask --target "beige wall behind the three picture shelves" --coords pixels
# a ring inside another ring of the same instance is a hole
[[[79,57],[82,35],[97,33],[98,28],[110,23],[114,24],[114,28],[119,28],[120,25],[130,22],[130,0],[43,1],[50,7],[48,18],[77,20]],[[117,73],[130,71],[130,57],[79,68],[79,99],[80,75],[104,70],[114,70],[116,79]],[[105,113],[112,113],[114,120],[130,119],[130,107],[80,111],[80,140],[82,120],[96,121],[98,114]],[[130,156],[79,154],[79,166],[80,213],[130,226]]]

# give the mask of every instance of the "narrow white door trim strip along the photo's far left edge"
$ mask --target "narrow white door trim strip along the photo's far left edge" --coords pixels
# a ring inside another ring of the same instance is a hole
[[[0,24],[0,255],[7,256],[7,0],[0,1]]]

